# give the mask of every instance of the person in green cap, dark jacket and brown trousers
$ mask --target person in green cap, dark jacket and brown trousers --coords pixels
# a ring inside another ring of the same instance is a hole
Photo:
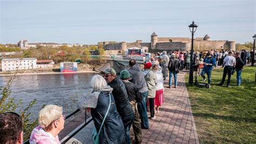
[[[133,133],[135,135],[135,140],[136,142],[134,143],[140,143],[142,141],[142,127],[140,125],[140,118],[139,118],[139,113],[138,109],[136,108],[137,102],[142,101],[142,95],[139,92],[139,88],[131,83],[129,81],[130,78],[130,73],[127,70],[123,70],[120,72],[120,79],[122,79],[126,92],[128,94],[130,104],[132,106],[133,112],[134,112],[134,120],[132,122],[132,128],[133,128]]]

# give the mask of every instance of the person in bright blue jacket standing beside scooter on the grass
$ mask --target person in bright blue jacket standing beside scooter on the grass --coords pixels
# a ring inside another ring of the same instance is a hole
[[[201,77],[203,77],[203,82],[206,81],[206,78],[205,78],[205,73],[207,74],[207,78],[208,78],[208,84],[209,86],[211,85],[211,80],[212,80],[212,67],[215,65],[216,63],[216,60],[214,57],[211,56],[211,53],[208,52],[206,54],[206,58],[204,59],[204,68],[201,72]]]

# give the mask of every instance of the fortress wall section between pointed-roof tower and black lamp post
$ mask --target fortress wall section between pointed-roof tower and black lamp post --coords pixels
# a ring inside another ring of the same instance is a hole
[[[187,51],[190,49],[189,43],[181,43],[181,42],[174,42],[174,43],[157,43],[157,50],[180,50]]]

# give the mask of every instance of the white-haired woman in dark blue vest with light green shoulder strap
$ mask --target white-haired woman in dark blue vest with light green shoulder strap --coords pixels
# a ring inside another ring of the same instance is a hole
[[[99,75],[92,77],[91,85],[92,93],[79,100],[77,107],[91,111],[99,143],[124,143],[124,125],[114,102],[113,88]]]

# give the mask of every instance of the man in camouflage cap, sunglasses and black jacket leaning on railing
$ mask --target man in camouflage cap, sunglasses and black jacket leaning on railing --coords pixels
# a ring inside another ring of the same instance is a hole
[[[106,68],[104,71],[100,72],[104,74],[104,78],[107,81],[107,85],[113,88],[112,94],[114,101],[116,102],[117,112],[119,113],[125,131],[126,143],[131,143],[130,141],[130,128],[134,118],[134,112],[126,92],[126,88],[122,80],[116,77],[116,71],[113,68]]]

